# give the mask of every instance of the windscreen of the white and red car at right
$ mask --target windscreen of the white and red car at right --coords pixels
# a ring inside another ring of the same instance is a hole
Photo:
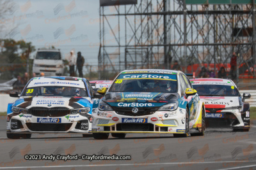
[[[199,96],[239,96],[239,92],[230,85],[193,85]]]

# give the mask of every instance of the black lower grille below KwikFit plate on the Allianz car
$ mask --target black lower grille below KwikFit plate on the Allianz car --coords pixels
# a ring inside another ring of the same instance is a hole
[[[26,123],[28,126],[28,129],[30,131],[47,131],[47,132],[63,132],[68,131],[70,127],[72,126],[72,123],[68,124],[36,124],[36,123]]]

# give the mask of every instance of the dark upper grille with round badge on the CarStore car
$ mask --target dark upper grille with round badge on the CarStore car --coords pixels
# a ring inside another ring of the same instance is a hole
[[[118,115],[124,115],[124,116],[129,116],[129,117],[141,117],[145,115],[153,115],[155,111],[159,109],[159,107],[152,107],[152,108],[138,108],[137,113],[132,113],[132,108],[121,108],[121,107],[112,107],[113,110],[116,112]]]

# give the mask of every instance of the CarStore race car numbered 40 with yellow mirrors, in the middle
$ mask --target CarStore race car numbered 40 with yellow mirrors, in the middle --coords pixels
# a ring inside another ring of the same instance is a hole
[[[204,135],[204,103],[181,71],[122,71],[108,91],[97,92],[106,94],[95,101],[99,106],[92,113],[95,139],[108,139],[109,133],[116,138],[126,133]]]

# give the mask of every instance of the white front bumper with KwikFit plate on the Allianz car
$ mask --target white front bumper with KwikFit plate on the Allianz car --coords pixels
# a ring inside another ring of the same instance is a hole
[[[91,133],[92,123],[79,114],[65,117],[35,117],[30,114],[13,116],[7,122],[9,133]]]

